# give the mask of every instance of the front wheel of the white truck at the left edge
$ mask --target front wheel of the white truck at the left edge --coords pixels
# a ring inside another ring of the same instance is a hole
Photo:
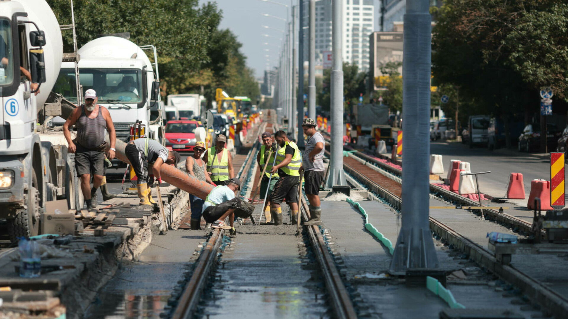
[[[24,192],[24,203],[27,209],[20,209],[15,219],[8,220],[8,234],[10,241],[15,242],[18,237],[29,238],[39,233],[39,191],[37,190],[37,176],[32,170],[32,186]]]

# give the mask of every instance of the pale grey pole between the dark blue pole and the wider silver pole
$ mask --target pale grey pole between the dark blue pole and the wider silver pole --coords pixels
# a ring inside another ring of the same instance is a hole
[[[333,16],[333,22],[341,26],[341,18],[338,20]],[[335,24],[333,25],[333,39],[335,39]],[[340,33],[341,29],[337,33]],[[339,35],[341,37],[341,35]],[[335,40],[332,40],[335,44]],[[341,46],[341,42],[339,46]],[[308,69],[308,117],[316,118],[316,0],[310,0],[310,66]],[[334,51],[335,54],[335,51]],[[340,52],[341,54],[341,52]],[[335,58],[335,55],[333,56]],[[343,91],[343,90],[342,90]]]

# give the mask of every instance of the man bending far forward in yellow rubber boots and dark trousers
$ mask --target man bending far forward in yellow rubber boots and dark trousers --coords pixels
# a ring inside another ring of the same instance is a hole
[[[130,165],[138,178],[138,197],[140,205],[157,204],[152,199],[152,191],[148,188],[152,184],[160,185],[162,178],[160,167],[162,164],[177,165],[181,156],[178,152],[168,151],[162,144],[151,138],[137,138],[129,142],[124,148],[124,154],[130,161]],[[148,164],[152,164],[152,175],[148,176]],[[154,176],[156,177],[154,182]],[[148,185],[148,184],[149,185]]]

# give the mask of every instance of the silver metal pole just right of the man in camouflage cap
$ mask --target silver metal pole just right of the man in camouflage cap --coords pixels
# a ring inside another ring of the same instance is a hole
[[[345,186],[343,173],[343,58],[341,57],[341,4],[332,1],[331,158],[326,186]],[[310,16],[310,19],[312,15]],[[310,30],[310,33],[312,31]],[[310,44],[311,45],[311,44]],[[315,104],[315,103],[314,103]],[[315,106],[314,106],[315,107]]]

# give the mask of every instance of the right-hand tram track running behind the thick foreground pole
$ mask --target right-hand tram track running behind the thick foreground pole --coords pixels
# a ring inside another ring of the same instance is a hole
[[[373,167],[371,167],[373,166]],[[344,170],[361,183],[368,190],[378,194],[386,200],[392,207],[400,211],[402,207],[402,180],[400,180],[401,171],[387,165],[381,161],[366,156],[361,152],[355,152],[344,157]],[[431,194],[439,195],[446,200],[462,205],[478,205],[463,196],[444,190],[441,187],[431,184]],[[487,209],[486,216],[499,223],[505,223],[511,228],[517,228],[521,233],[530,233],[531,224],[527,221],[517,219],[514,216],[500,213],[492,209]],[[463,236],[440,220],[429,217],[429,226],[433,233],[444,238],[448,244],[453,245],[469,255],[469,258],[478,265],[487,268],[500,276],[509,283],[515,284],[529,299],[536,301],[542,307],[546,307],[550,314],[557,318],[563,318],[568,313],[568,299],[560,295],[558,292],[546,287],[545,284],[525,274],[523,271],[511,265],[502,265],[497,261],[494,254],[485,247],[475,243],[469,238]]]

